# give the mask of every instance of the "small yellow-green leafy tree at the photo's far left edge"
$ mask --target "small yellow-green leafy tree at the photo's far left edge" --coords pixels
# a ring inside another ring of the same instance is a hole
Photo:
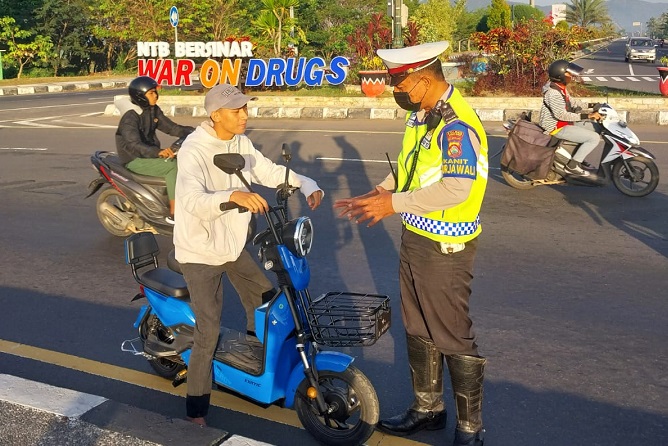
[[[28,64],[46,60],[53,47],[51,40],[33,31],[21,29],[12,17],[0,18],[0,42],[7,47],[3,60],[18,66],[17,78],[23,74]]]

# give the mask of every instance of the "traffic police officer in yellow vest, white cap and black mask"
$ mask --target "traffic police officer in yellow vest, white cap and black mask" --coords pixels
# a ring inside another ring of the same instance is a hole
[[[485,359],[469,317],[473,262],[488,176],[480,119],[444,78],[438,56],[448,42],[378,50],[406,129],[398,171],[371,192],[335,202],[340,216],[373,226],[399,213],[399,282],[414,401],[381,420],[380,430],[410,435],[445,428],[443,358],[457,407],[455,446],[482,446]]]

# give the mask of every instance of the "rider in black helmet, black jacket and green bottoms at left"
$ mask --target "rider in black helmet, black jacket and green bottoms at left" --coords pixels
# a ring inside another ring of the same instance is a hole
[[[139,76],[128,85],[130,101],[135,107],[122,114],[116,130],[116,151],[121,162],[132,172],[163,177],[167,185],[170,216],[167,223],[174,224],[174,190],[176,187],[176,159],[171,147],[160,148],[155,131],[160,130],[178,138],[185,137],[194,127],[176,124],[166,117],[158,102],[158,83]]]

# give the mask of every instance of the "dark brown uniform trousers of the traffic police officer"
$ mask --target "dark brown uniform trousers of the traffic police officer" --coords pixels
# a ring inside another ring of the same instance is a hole
[[[469,317],[473,262],[478,241],[454,254],[404,230],[399,253],[401,314],[406,333],[431,339],[444,355],[478,355]]]

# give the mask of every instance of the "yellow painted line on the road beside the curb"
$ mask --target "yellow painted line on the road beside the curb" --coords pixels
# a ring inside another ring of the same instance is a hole
[[[186,386],[174,387],[170,381],[150,373],[126,369],[104,362],[93,361],[79,356],[68,355],[66,353],[46,350],[3,339],[0,339],[0,353],[53,364],[71,370],[77,370],[91,375],[101,376],[103,378],[113,379],[123,383],[133,384],[185,398]],[[225,392],[212,392],[211,404],[216,407],[303,429],[297,414],[291,409],[284,409],[278,406],[263,408],[250,401],[246,401]],[[425,443],[375,432],[367,441],[367,444],[378,446],[420,446]]]

